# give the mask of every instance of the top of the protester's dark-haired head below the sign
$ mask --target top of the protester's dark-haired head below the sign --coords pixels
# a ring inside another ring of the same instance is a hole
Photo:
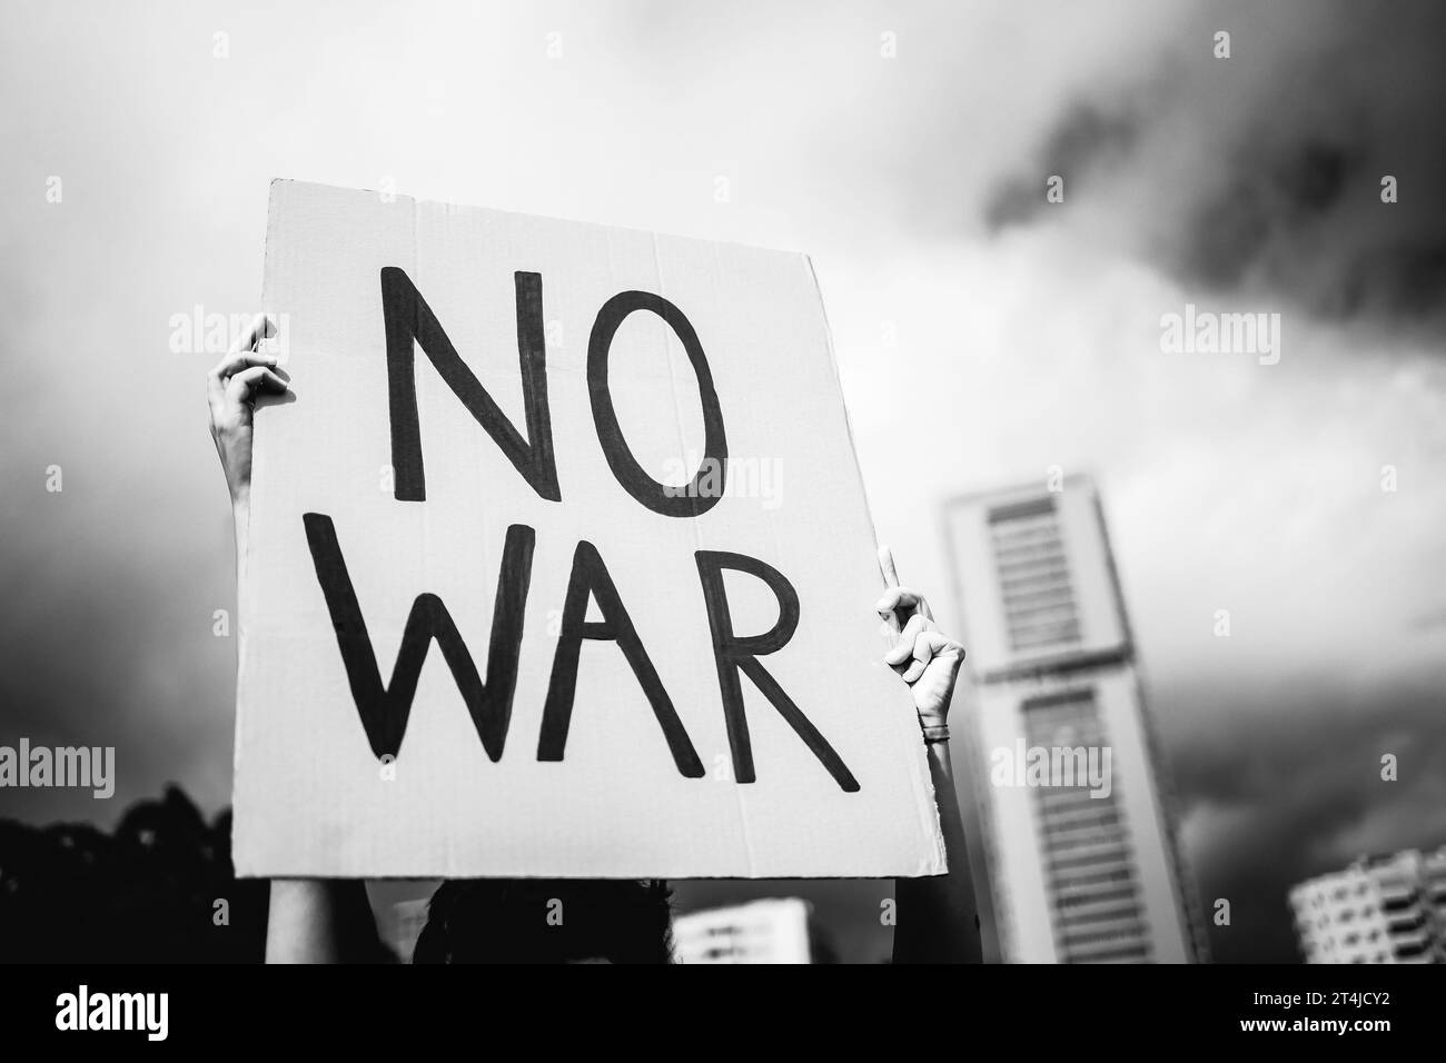
[[[484,878],[442,882],[414,963],[669,963],[667,882]]]

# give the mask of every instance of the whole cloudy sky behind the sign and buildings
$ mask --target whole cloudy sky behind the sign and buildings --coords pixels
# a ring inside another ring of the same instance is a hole
[[[807,250],[946,622],[941,499],[1093,471],[1218,959],[1294,959],[1291,882],[1446,842],[1446,9],[782,7],[7,0],[0,743],[120,775],[0,814],[228,800],[214,359],[169,337],[257,308],[292,176]],[[1280,312],[1280,363],[1163,353],[1187,302]],[[878,892],[816,895],[850,957]]]

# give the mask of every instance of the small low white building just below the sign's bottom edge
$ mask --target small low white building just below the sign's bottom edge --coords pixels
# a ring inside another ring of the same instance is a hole
[[[678,915],[672,940],[678,963],[810,963],[808,902],[790,897]]]

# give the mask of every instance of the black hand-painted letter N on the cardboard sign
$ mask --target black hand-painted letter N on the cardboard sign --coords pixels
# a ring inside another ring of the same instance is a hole
[[[528,438],[503,415],[457,354],[416,285],[398,266],[382,269],[382,317],[386,323],[386,380],[392,415],[392,470],[398,502],[425,502],[422,431],[416,415],[416,344],[431,359],[453,395],[487,430],[512,466],[539,496],[561,502],[552,418],[547,405],[547,346],[542,338],[542,275],[513,273],[518,294],[518,367]]]

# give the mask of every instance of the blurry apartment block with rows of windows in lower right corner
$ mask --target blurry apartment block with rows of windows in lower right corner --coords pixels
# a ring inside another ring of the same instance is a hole
[[[1446,846],[1362,858],[1290,891],[1306,963],[1446,963]]]

